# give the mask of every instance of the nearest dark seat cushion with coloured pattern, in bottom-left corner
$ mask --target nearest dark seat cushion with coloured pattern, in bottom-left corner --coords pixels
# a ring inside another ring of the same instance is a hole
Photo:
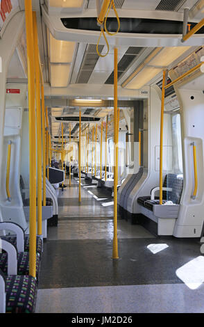
[[[6,278],[6,312],[33,313],[37,297],[37,282],[32,276]]]

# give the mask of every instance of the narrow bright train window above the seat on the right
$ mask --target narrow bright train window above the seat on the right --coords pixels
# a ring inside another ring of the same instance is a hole
[[[173,138],[173,168],[174,173],[182,173],[182,145],[180,113],[172,117],[172,138]]]

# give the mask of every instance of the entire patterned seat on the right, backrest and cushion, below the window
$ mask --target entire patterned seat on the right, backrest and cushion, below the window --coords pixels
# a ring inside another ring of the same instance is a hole
[[[182,194],[182,186],[182,175],[167,174],[163,184],[164,191],[162,192],[162,204],[164,205],[167,201],[171,201],[173,204],[178,205]],[[157,189],[158,188],[156,188],[155,191],[157,191]],[[153,211],[153,206],[159,205],[160,200],[158,197],[151,198],[151,196],[141,196],[137,198],[137,203],[146,209]]]

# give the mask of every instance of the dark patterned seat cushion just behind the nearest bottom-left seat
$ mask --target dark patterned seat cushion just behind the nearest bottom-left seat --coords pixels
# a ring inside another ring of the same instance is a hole
[[[7,273],[8,262],[7,253],[0,253],[0,269],[3,273]],[[40,270],[40,256],[36,256],[36,278],[38,280]],[[17,274],[29,275],[29,253],[21,252],[17,254]]]

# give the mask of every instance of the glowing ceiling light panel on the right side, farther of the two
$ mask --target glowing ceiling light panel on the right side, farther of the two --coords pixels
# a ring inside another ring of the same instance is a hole
[[[160,72],[162,72],[162,68],[146,66],[132,79],[132,81],[127,84],[126,88],[138,90],[139,88],[142,88],[142,86],[144,86],[146,83],[151,81],[151,79],[153,79],[153,77],[155,77]]]

